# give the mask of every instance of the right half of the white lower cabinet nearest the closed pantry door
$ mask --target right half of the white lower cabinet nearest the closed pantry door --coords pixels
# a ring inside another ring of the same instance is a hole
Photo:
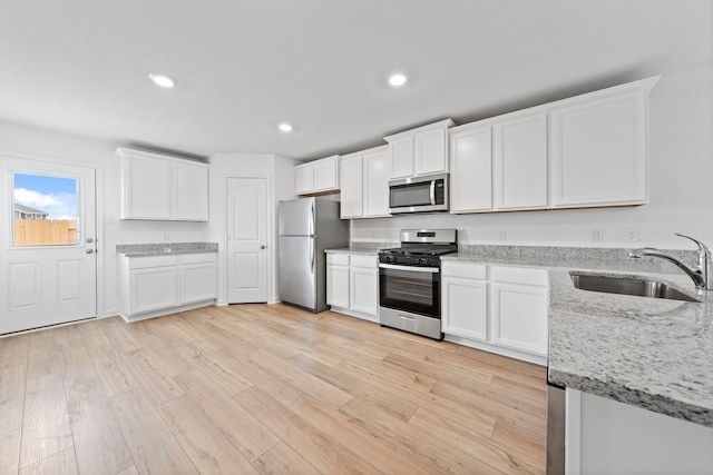
[[[215,254],[179,256],[178,301],[193,304],[217,297],[217,259]]]

